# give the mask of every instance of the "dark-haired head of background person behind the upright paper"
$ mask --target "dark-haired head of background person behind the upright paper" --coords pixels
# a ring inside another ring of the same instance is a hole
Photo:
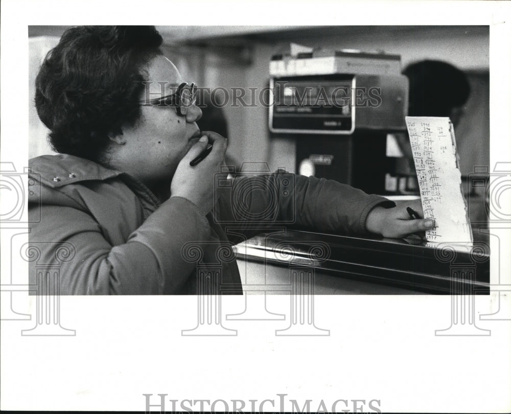
[[[410,82],[410,117],[449,117],[457,125],[470,95],[462,71],[446,62],[423,60],[408,65],[403,74]]]

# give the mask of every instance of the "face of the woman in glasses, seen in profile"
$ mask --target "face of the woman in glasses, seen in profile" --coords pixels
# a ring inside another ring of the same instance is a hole
[[[141,101],[170,95],[182,83],[177,68],[164,56],[152,59],[146,72],[146,90]],[[168,180],[170,185],[180,160],[199,140],[196,121],[201,115],[195,105],[188,108],[185,116],[179,116],[171,106],[142,106],[137,123],[122,128],[122,145],[113,146],[113,167],[144,183]]]

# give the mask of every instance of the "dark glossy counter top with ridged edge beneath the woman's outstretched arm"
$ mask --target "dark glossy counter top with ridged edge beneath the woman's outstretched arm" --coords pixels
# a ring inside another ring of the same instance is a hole
[[[488,236],[475,232],[471,247],[428,243],[419,238],[364,238],[280,230],[262,233],[235,249],[239,264],[260,264],[259,271],[265,273],[262,285],[267,284],[269,275],[286,273],[286,267],[304,267],[315,269],[316,279],[319,277],[323,287],[317,292],[320,294],[353,293],[353,290],[366,294],[379,290],[383,294],[489,293]],[[345,281],[343,286],[347,283],[351,288],[340,291],[339,279]],[[356,283],[364,288],[357,289]],[[329,285],[332,289],[328,289]],[[367,289],[367,286],[375,288]]]

